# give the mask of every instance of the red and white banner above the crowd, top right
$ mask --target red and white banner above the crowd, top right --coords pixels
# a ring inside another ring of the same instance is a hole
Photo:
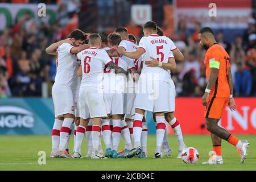
[[[177,22],[184,19],[187,28],[193,28],[194,22],[211,28],[247,28],[251,16],[251,0],[176,0]],[[176,22],[176,23],[177,23]]]

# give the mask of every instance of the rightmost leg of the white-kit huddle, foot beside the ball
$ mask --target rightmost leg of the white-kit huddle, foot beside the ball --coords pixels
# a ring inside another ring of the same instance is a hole
[[[174,112],[169,112],[164,114],[166,121],[171,125],[172,130],[174,131],[174,134],[177,138],[177,142],[178,142],[178,146],[179,146],[179,154],[177,156],[177,158],[181,158],[181,153],[183,150],[185,150],[186,146],[183,140],[183,135],[182,135],[182,131],[181,131],[181,127],[180,127],[180,123],[179,121],[177,121]]]

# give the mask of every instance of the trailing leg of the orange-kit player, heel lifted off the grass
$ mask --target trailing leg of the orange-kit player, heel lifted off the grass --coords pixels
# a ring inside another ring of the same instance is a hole
[[[220,137],[237,147],[241,156],[241,163],[243,163],[246,159],[249,142],[234,137],[228,130],[218,126],[218,121],[222,116],[228,100],[229,98],[210,98],[207,108],[205,109],[205,123],[207,125],[207,130],[210,131],[210,133],[217,135],[217,137]]]

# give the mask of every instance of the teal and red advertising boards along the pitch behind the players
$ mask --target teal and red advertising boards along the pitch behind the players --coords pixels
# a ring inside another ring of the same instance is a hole
[[[220,125],[233,134],[256,134],[256,98],[236,98],[237,111],[226,106]],[[183,134],[209,134],[204,123],[201,98],[177,98],[175,116]],[[54,120],[51,98],[7,98],[0,100],[1,135],[51,134]],[[147,113],[148,134],[155,134],[152,114]],[[169,126],[169,134],[173,134]]]

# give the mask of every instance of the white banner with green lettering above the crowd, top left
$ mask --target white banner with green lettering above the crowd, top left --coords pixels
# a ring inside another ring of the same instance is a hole
[[[44,9],[46,16],[44,16]],[[30,14],[31,18],[42,22],[55,22],[57,5],[39,4],[11,4],[0,3],[0,31],[6,27],[10,27],[15,23],[16,19],[23,16],[25,13]]]

